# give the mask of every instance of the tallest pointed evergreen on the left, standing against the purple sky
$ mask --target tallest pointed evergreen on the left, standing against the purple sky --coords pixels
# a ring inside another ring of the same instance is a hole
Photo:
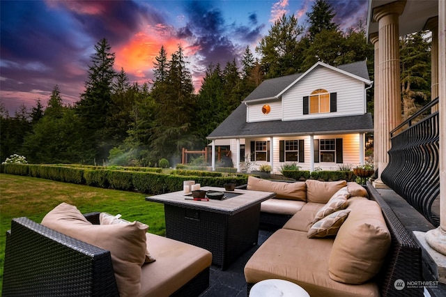
[[[85,91],[77,102],[77,113],[82,121],[85,135],[85,145],[97,152],[97,161],[105,160],[111,148],[108,143],[112,135],[105,132],[107,117],[110,116],[112,101],[112,85],[116,72],[114,71],[115,54],[103,38],[95,45],[95,54],[91,56],[89,79],[85,82]]]

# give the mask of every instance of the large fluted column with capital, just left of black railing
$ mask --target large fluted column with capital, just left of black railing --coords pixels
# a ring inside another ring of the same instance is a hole
[[[375,106],[374,146],[378,158],[378,180],[387,164],[390,150],[390,131],[401,123],[401,79],[399,75],[399,23],[406,1],[395,1],[374,9],[378,22],[378,104]],[[376,101],[375,101],[376,102]],[[378,107],[378,109],[376,108]]]

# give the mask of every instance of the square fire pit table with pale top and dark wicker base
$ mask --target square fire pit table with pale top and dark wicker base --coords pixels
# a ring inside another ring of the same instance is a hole
[[[213,264],[225,269],[243,252],[257,244],[260,204],[275,197],[274,192],[252,190],[224,191],[222,200],[195,201],[183,191],[146,197],[164,204],[166,236],[209,250]]]

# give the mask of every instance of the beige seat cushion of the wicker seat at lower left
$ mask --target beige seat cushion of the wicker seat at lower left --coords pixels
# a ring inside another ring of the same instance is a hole
[[[170,296],[212,262],[212,254],[203,248],[155,234],[146,236],[157,261],[142,266],[139,296]]]

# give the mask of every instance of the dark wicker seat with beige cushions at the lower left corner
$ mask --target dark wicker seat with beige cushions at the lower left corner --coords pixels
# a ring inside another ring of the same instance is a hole
[[[66,215],[69,204],[59,206],[54,210],[59,207],[59,214]],[[100,213],[83,218],[86,222],[79,218],[75,224],[62,220],[66,229],[55,227],[59,219],[44,218],[43,224],[59,231],[28,218],[13,219],[6,237],[3,296],[199,296],[208,288],[212,254],[207,250],[146,233],[139,222],[101,227]],[[79,238],[95,244],[74,238],[71,232],[79,230],[84,230]],[[128,242],[117,256],[122,241]]]

